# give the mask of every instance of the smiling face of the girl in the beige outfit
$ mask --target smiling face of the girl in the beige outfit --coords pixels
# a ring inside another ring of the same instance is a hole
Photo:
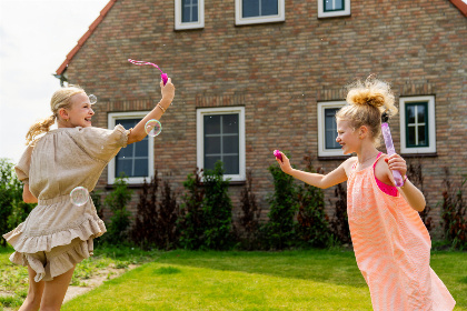
[[[67,128],[91,127],[91,118],[95,111],[91,108],[89,98],[86,93],[78,93],[70,98],[70,108],[61,108],[60,117],[64,120]]]

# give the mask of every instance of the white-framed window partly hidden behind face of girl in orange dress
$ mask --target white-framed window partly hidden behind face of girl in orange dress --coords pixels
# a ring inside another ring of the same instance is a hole
[[[318,157],[344,156],[340,144],[336,142],[336,112],[345,104],[345,101],[318,103]]]

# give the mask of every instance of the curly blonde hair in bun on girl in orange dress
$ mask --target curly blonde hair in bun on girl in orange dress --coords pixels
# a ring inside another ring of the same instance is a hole
[[[389,83],[369,76],[364,82],[356,81],[347,87],[347,104],[336,113],[336,119],[348,120],[354,129],[367,126],[371,139],[379,143],[381,114],[397,114],[394,93]]]

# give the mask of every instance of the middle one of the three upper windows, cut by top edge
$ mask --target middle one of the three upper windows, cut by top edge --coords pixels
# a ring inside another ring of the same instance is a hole
[[[285,21],[285,0],[235,0],[236,24]]]

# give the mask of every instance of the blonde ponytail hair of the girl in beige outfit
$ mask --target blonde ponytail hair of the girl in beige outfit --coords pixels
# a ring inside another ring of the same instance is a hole
[[[33,142],[36,137],[40,136],[41,133],[47,133],[50,130],[50,127],[53,126],[58,119],[58,111],[60,108],[69,109],[71,107],[70,98],[79,93],[85,93],[85,90],[78,86],[69,86],[57,90],[50,100],[50,110],[52,111],[52,116],[33,123],[29,128],[29,131],[26,134],[26,144]]]

